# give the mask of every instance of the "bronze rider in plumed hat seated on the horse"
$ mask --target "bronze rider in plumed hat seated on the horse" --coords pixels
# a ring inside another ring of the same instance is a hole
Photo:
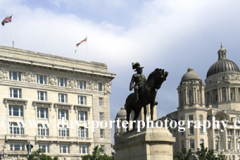
[[[139,102],[139,92],[138,91],[140,88],[142,88],[142,86],[145,84],[147,79],[142,74],[143,67],[141,67],[138,62],[132,63],[132,68],[136,69],[135,71],[137,73],[132,76],[129,90],[131,91],[134,88],[134,93],[136,95],[136,102]],[[135,82],[135,85],[134,85],[134,82]]]

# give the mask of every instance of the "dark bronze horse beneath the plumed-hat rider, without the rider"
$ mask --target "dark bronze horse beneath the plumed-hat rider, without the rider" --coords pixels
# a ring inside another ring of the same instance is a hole
[[[134,111],[134,119],[137,120],[139,113],[144,108],[144,120],[146,121],[147,105],[150,104],[151,120],[153,120],[153,107],[157,105],[155,102],[157,90],[161,87],[162,83],[166,80],[168,72],[163,69],[156,68],[147,78],[146,83],[140,89],[139,101],[136,102],[135,93],[131,93],[125,103],[125,110],[127,112],[127,121],[129,124],[130,113]],[[135,123],[133,123],[133,129]],[[127,125],[128,131],[128,125]]]

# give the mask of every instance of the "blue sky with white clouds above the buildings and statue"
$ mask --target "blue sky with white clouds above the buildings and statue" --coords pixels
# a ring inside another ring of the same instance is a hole
[[[176,88],[188,67],[204,81],[223,42],[239,65],[239,0],[0,0],[0,18],[13,14],[15,47],[106,63],[117,74],[111,119],[124,106],[132,62],[169,71],[157,94],[158,118],[178,107]],[[12,25],[0,27],[0,45],[12,45]],[[112,133],[113,134],[113,133]]]

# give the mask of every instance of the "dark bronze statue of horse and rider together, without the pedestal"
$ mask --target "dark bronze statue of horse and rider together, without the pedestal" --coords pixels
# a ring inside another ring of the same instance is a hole
[[[137,72],[132,76],[129,90],[134,89],[125,103],[125,110],[127,112],[127,121],[129,124],[130,113],[134,111],[133,120],[137,120],[141,109],[144,108],[144,120],[146,121],[147,105],[150,104],[151,120],[153,120],[153,107],[158,104],[155,101],[157,90],[161,87],[162,83],[166,80],[168,72],[164,69],[156,68],[149,76],[148,79],[142,74],[140,63],[132,63],[132,68]],[[133,123],[133,129],[135,123]],[[128,131],[128,127],[127,127]]]

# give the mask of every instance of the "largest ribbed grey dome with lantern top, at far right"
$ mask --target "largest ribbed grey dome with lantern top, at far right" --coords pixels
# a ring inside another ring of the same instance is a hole
[[[227,59],[226,53],[227,50],[221,45],[221,49],[218,51],[218,61],[209,68],[207,77],[220,72],[240,72],[236,63]]]

